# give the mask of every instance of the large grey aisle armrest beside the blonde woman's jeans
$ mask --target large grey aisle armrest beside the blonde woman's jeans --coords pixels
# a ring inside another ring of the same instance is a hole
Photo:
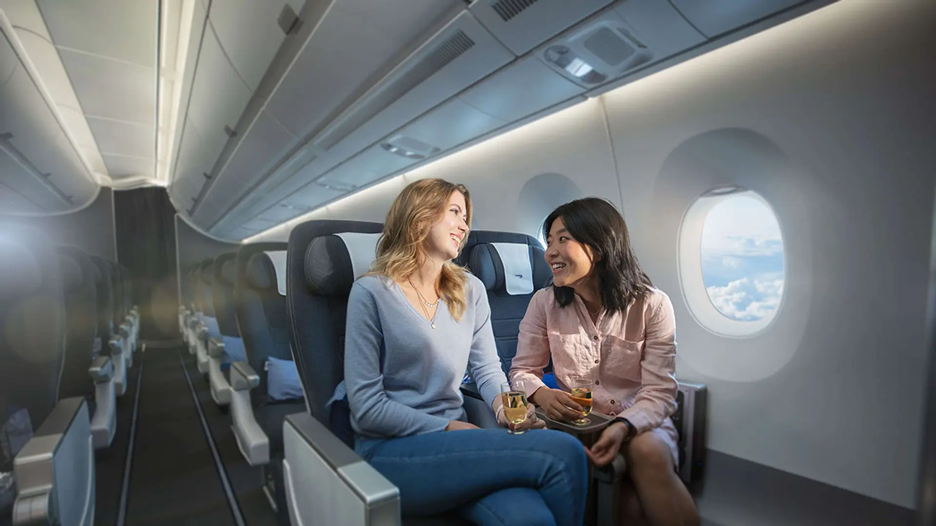
[[[283,479],[292,524],[397,523],[400,489],[308,413],[285,417]],[[329,488],[329,491],[315,490]]]

